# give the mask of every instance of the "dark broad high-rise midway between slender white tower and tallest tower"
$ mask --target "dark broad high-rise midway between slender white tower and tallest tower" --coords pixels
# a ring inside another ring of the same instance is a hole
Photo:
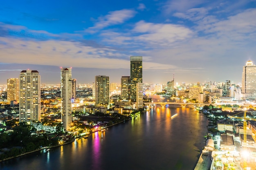
[[[95,76],[95,105],[109,104],[109,77]]]

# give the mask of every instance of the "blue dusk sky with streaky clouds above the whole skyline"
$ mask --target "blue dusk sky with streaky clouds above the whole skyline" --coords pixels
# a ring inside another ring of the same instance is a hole
[[[0,84],[37,70],[59,84],[95,75],[121,83],[143,56],[143,83],[240,83],[256,64],[256,0],[6,0],[0,5]]]

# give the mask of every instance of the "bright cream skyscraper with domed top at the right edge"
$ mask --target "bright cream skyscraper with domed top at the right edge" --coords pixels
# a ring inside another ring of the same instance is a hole
[[[252,61],[247,61],[243,66],[242,74],[242,98],[256,100],[256,66]]]

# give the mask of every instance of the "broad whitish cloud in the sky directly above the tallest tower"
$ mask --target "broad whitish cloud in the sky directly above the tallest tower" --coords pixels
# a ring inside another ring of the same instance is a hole
[[[129,33],[108,32],[106,42],[113,44],[129,44],[130,47],[165,48],[173,46],[174,42],[186,40],[193,36],[193,31],[177,24],[150,23],[139,21]],[[111,36],[110,36],[111,35]]]

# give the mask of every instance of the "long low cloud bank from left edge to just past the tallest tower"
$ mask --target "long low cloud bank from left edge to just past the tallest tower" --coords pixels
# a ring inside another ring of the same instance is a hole
[[[84,46],[70,41],[33,41],[0,37],[2,63],[72,66],[81,68],[128,68],[129,56],[107,47]],[[38,48],[38,46],[40,48]],[[4,50],[2,50],[4,49]],[[148,62],[144,69],[167,69],[168,64]]]

